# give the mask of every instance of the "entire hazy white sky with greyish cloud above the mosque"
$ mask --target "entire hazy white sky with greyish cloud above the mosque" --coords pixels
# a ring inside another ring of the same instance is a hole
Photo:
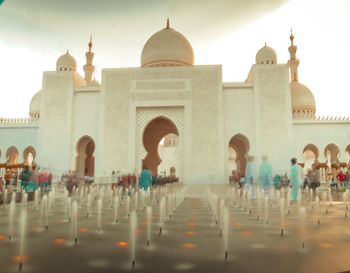
[[[293,27],[299,80],[321,115],[350,116],[348,0],[6,0],[0,6],[0,116],[28,115],[42,72],[69,49],[82,73],[93,35],[101,68],[138,67],[143,45],[170,18],[196,64],[222,64],[224,81],[244,81],[266,42],[288,61]]]

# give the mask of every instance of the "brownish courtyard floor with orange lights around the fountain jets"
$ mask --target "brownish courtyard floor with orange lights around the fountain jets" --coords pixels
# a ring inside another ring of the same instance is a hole
[[[224,196],[224,195],[222,195]],[[202,194],[190,194],[167,220],[159,235],[159,203],[153,204],[150,246],[146,246],[146,213],[137,212],[136,264],[130,260],[130,221],[123,203],[118,223],[108,201],[97,231],[96,208],[87,218],[79,209],[78,243],[67,220],[63,199],[57,197],[48,219],[48,230],[40,226],[40,210],[28,203],[27,236],[22,272],[346,272],[350,270],[350,219],[342,202],[321,202],[320,225],[314,205],[307,206],[306,227],[301,228],[297,207],[285,216],[281,236],[280,211],[271,202],[269,223],[229,199],[228,259],[224,259],[223,237]],[[13,238],[8,240],[8,206],[0,206],[0,272],[19,269],[19,215]],[[327,211],[327,213],[326,213]],[[350,216],[350,213],[349,213]],[[302,243],[305,244],[304,248]],[[350,271],[349,271],[350,272]]]

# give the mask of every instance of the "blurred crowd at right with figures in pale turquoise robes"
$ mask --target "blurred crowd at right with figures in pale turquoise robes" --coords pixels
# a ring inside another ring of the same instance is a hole
[[[326,177],[326,182],[328,182],[329,186],[331,188],[335,187],[337,190],[339,187],[348,188],[350,186],[349,170],[345,173],[342,170],[339,170],[336,173],[335,171],[336,170],[333,170],[333,172],[330,172]],[[321,185],[321,174],[320,169],[314,164],[312,168],[307,171],[306,175],[304,175],[301,166],[297,164],[297,159],[292,158],[289,177],[287,173],[284,175],[276,174],[273,176],[272,167],[268,163],[267,157],[264,156],[256,177],[254,157],[249,156],[245,173],[242,174],[237,170],[233,170],[232,175],[230,176],[230,184],[238,185],[241,188],[245,187],[248,190],[251,190],[253,195],[258,182],[259,186],[265,190],[268,190],[272,186],[276,189],[290,187],[291,199],[297,200],[299,187],[316,189]]]

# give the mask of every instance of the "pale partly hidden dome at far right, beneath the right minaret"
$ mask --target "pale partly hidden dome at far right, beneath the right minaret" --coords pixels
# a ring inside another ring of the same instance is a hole
[[[292,110],[294,112],[316,112],[314,95],[305,85],[294,81],[290,84],[292,92]]]

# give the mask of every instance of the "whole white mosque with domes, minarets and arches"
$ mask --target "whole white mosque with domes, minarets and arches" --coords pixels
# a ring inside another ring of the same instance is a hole
[[[287,62],[265,45],[245,81],[223,82],[222,66],[195,65],[190,42],[168,21],[144,45],[140,67],[103,69],[101,83],[90,40],[84,76],[67,52],[43,73],[30,118],[0,118],[0,164],[34,160],[95,177],[146,165],[154,174],[172,168],[186,184],[227,183],[248,155],[256,166],[267,156],[274,174],[288,172],[291,157],[350,166],[350,120],[316,116],[290,40]]]

